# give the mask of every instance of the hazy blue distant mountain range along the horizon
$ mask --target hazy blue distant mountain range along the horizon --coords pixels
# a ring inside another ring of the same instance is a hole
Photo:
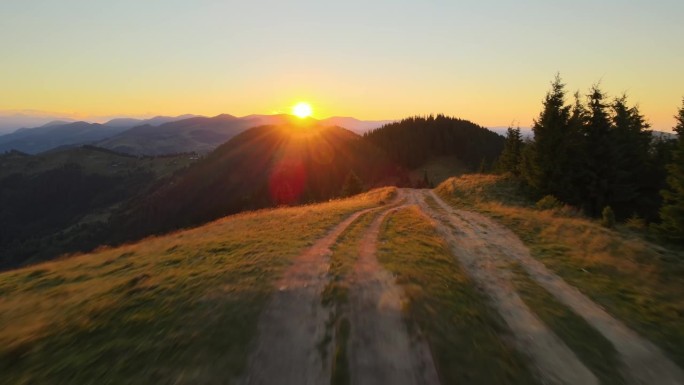
[[[0,153],[17,150],[37,154],[84,144],[133,155],[207,153],[248,128],[290,124],[297,119],[285,114],[249,115],[242,118],[222,114],[211,118],[196,115],[117,118],[102,124],[56,120],[0,136]],[[392,121],[333,117],[317,122],[362,134]]]

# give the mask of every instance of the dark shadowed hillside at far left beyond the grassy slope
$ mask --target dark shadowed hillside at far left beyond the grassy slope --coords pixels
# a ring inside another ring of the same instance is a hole
[[[97,247],[118,205],[192,162],[92,146],[0,155],[0,268]]]

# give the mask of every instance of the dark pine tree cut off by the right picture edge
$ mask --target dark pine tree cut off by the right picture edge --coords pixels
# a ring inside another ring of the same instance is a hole
[[[677,125],[677,147],[672,153],[672,163],[667,167],[668,188],[663,190],[664,203],[660,209],[662,223],[659,229],[666,236],[684,241],[684,100],[675,116]]]

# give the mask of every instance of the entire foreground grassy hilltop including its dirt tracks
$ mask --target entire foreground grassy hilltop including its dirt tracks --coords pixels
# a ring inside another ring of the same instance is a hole
[[[0,273],[0,380],[681,383],[681,252],[524,196],[468,175]]]

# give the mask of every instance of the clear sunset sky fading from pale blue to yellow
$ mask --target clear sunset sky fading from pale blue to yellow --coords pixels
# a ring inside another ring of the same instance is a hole
[[[558,72],[668,131],[684,1],[0,0],[0,112],[444,113],[530,126]]]

